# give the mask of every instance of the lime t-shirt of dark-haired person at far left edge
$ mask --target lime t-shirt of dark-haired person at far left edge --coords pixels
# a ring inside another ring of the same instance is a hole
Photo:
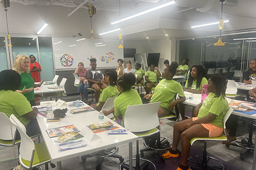
[[[27,98],[21,93],[11,90],[0,90],[0,103],[0,112],[5,113],[8,117],[14,114],[24,126],[31,121],[22,116],[31,112],[32,108]]]

